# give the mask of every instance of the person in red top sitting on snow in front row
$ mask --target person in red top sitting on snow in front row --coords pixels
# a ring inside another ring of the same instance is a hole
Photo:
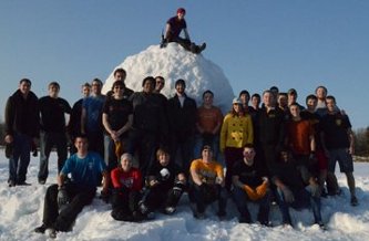
[[[111,172],[113,184],[112,217],[119,221],[141,221],[143,218],[139,210],[141,199],[142,175],[132,167],[131,154],[121,156],[121,165]]]

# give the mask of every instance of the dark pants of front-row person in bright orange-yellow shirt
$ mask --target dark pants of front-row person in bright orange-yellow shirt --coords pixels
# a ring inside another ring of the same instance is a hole
[[[218,212],[224,213],[227,206],[227,191],[219,185],[205,187],[194,184],[189,190],[189,200],[196,203],[199,213],[204,213],[209,203],[218,201]]]

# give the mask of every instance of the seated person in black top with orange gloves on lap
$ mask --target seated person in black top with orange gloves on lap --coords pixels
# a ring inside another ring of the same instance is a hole
[[[270,190],[266,174],[255,164],[255,149],[253,145],[244,147],[244,159],[233,166],[232,182],[234,186],[233,198],[239,211],[239,222],[250,223],[252,217],[247,202],[259,203],[257,221],[260,224],[269,224]]]

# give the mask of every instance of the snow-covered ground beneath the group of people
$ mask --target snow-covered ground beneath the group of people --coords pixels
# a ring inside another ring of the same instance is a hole
[[[50,161],[50,176],[47,186],[37,184],[38,158],[32,158],[29,187],[8,188],[8,160],[0,150],[0,240],[48,240],[47,235],[34,233],[41,224],[43,197],[48,185],[54,182],[55,156]],[[295,228],[279,226],[277,207],[271,208],[270,220],[274,228],[258,224],[239,224],[234,203],[228,202],[228,217],[218,221],[213,208],[207,210],[207,219],[195,220],[185,196],[177,213],[167,217],[157,214],[153,221],[129,223],[114,221],[110,206],[95,199],[78,217],[72,232],[59,233],[57,240],[369,240],[369,164],[356,164],[357,196],[360,205],[349,205],[349,191],[345,176],[338,175],[344,196],[322,199],[322,217],[329,230],[321,231],[311,226],[309,210],[291,211]],[[250,206],[253,217],[256,206]]]

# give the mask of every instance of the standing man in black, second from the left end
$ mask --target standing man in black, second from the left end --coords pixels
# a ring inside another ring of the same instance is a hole
[[[71,114],[69,103],[59,97],[60,85],[58,82],[49,84],[49,95],[39,99],[41,114],[40,133],[40,170],[39,184],[44,185],[49,176],[49,157],[53,146],[58,154],[58,174],[64,166],[68,157],[68,139],[65,114]]]

